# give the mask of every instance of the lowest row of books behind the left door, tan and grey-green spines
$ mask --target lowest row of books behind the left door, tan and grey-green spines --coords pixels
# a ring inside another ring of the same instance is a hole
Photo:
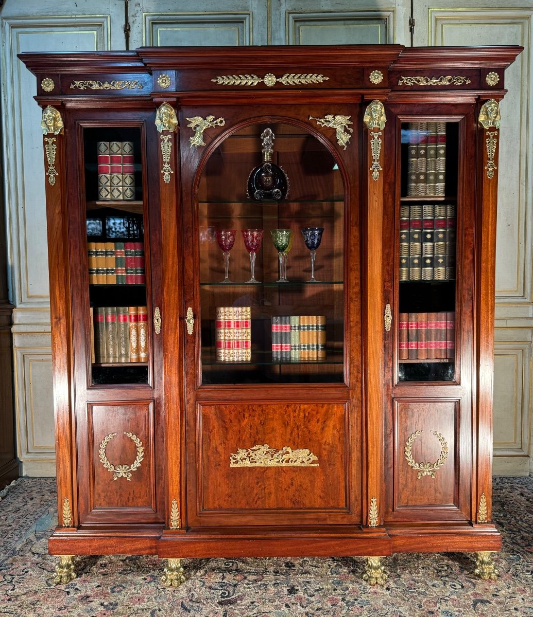
[[[90,307],[91,361],[148,362],[146,307]]]

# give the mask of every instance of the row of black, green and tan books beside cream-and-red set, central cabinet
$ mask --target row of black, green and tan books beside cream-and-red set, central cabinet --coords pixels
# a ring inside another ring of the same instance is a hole
[[[325,315],[281,315],[272,318],[273,362],[325,359]]]

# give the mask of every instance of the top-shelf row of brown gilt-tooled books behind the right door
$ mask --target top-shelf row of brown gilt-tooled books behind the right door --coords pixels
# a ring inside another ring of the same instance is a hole
[[[443,196],[446,122],[409,122],[407,128],[407,196]]]

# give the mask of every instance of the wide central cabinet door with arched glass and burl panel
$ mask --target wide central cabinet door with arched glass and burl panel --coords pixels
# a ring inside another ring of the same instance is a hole
[[[360,523],[357,132],[260,109],[181,110],[187,524]]]

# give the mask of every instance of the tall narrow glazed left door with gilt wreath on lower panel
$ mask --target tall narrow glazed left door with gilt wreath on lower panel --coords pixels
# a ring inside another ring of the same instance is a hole
[[[163,521],[155,476],[162,346],[153,328],[160,221],[147,165],[153,117],[151,110],[66,115],[82,526]]]

